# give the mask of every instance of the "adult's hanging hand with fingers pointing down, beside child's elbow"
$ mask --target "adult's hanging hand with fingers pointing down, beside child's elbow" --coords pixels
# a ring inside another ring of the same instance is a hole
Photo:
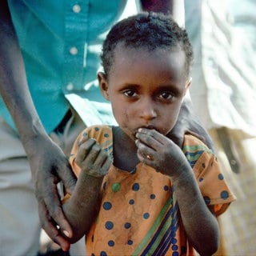
[[[62,181],[66,191],[72,194],[76,178],[66,156],[50,138],[35,138],[29,144],[30,150],[27,153],[42,228],[62,250],[69,250],[70,242],[62,236],[62,232],[69,238],[73,236],[73,232],[63,214],[57,184]]]

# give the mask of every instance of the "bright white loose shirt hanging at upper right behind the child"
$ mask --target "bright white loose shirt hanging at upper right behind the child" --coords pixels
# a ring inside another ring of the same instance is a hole
[[[186,0],[195,51],[190,94],[207,129],[256,135],[256,2]]]

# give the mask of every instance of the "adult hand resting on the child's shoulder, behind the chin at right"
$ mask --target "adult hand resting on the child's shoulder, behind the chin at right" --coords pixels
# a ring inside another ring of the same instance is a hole
[[[182,147],[184,134],[192,134],[204,142],[211,150],[214,150],[214,143],[202,126],[196,114],[190,98],[184,98],[178,115],[178,120],[168,137],[178,146]]]

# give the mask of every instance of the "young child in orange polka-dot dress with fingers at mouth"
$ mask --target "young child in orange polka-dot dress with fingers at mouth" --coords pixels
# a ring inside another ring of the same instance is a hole
[[[118,126],[91,126],[74,143],[78,182],[63,206],[86,234],[88,255],[211,255],[218,222],[234,200],[214,154],[186,134],[169,138],[190,86],[193,51],[185,30],[162,14],[118,22],[98,73]]]

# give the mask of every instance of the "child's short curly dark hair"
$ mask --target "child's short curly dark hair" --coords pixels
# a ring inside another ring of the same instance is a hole
[[[122,43],[131,48],[146,50],[172,50],[181,47],[186,54],[185,76],[189,78],[193,62],[193,49],[186,30],[178,26],[170,15],[141,13],[115,24],[107,34],[102,47],[102,66],[106,78],[114,62],[114,50]]]

